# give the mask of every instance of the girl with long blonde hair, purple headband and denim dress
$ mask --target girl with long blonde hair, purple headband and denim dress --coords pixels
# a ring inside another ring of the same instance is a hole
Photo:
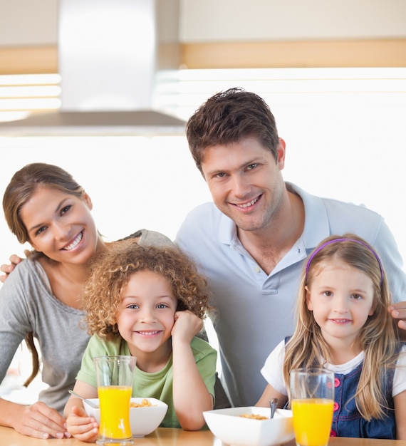
[[[289,399],[293,368],[335,373],[332,436],[406,439],[405,346],[380,257],[354,234],[323,240],[301,276],[296,329],[267,358],[257,405]]]

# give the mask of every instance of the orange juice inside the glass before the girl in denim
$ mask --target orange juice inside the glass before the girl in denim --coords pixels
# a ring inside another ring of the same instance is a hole
[[[333,400],[292,400],[293,429],[300,446],[326,446],[333,422]]]

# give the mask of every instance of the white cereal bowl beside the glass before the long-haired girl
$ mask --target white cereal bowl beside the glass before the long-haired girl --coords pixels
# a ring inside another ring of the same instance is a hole
[[[269,419],[270,413],[269,408],[244,407],[207,410],[203,415],[213,435],[227,445],[276,446],[293,440],[291,410],[276,409],[272,419]],[[242,418],[244,414],[261,415],[267,419]]]

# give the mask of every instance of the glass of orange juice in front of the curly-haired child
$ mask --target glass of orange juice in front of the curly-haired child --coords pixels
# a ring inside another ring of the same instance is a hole
[[[134,356],[93,358],[100,405],[99,445],[132,445],[130,398]]]

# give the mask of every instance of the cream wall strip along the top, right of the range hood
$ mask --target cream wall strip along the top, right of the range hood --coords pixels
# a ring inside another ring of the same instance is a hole
[[[404,0],[181,0],[180,41],[406,36]]]

